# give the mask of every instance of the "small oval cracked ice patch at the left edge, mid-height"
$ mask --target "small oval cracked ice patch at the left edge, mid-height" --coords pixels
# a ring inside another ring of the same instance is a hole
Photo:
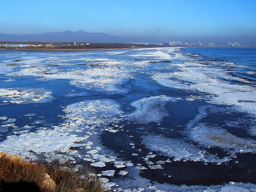
[[[46,89],[13,88],[0,89],[0,100],[6,103],[46,103],[54,100],[52,92]]]

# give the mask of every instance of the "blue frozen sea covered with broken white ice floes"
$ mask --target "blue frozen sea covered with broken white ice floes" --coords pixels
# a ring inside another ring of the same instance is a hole
[[[108,189],[256,191],[255,116],[255,48],[0,51],[0,151]]]

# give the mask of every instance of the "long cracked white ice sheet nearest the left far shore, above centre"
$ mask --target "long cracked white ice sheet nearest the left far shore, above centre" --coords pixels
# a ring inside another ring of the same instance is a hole
[[[115,63],[115,62],[114,62]],[[75,86],[100,87],[106,91],[121,91],[114,85],[123,79],[133,78],[131,71],[125,66],[107,66],[90,69],[57,70],[50,67],[24,68],[20,71],[8,73],[8,76],[38,76],[37,80],[70,79],[70,84]],[[88,87],[90,89],[90,87]]]

